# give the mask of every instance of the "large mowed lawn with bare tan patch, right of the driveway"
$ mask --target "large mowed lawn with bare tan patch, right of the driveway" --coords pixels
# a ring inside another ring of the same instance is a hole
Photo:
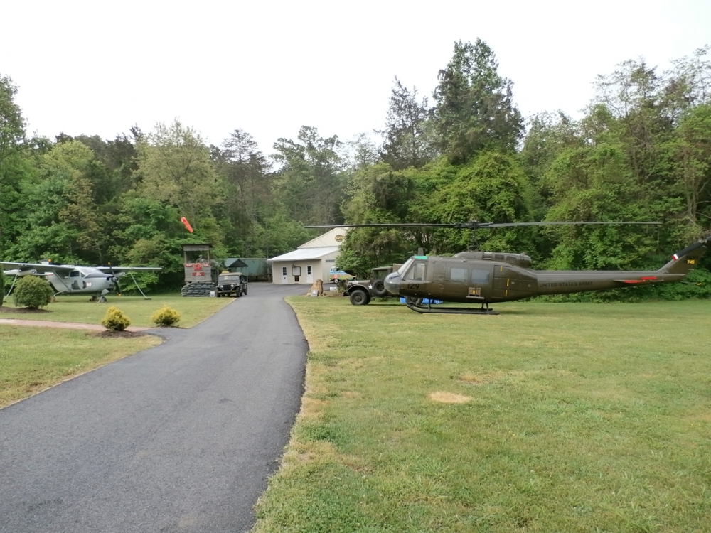
[[[256,532],[711,531],[711,301],[289,302],[306,393]]]

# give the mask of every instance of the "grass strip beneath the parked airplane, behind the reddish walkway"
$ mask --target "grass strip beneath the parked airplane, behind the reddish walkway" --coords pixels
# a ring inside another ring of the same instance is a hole
[[[247,296],[248,297],[248,296]],[[183,298],[180,294],[159,294],[145,300],[142,296],[107,296],[107,303],[90,302],[87,296],[57,296],[57,301],[46,308],[48,313],[12,313],[6,308],[13,308],[12,296],[0,306],[0,318],[27,318],[29,320],[80,322],[100,324],[106,310],[116,306],[131,319],[131,325],[154,327],[151,315],[163,306],[170,306],[181,313],[178,327],[190,328],[205,320],[216,311],[226,306],[235,298]]]

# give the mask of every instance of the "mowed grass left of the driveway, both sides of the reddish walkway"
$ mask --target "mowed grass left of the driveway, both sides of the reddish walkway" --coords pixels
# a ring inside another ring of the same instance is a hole
[[[11,299],[11,298],[9,298]],[[58,296],[46,313],[9,312],[0,318],[100,324],[109,306],[117,306],[131,325],[154,327],[151,315],[164,305],[181,313],[178,326],[190,327],[213,315],[232,298],[183,298],[180,295],[109,296],[109,303],[85,297]],[[95,331],[65,330],[0,324],[0,407],[16,402],[58,382],[108,362],[158,345],[152,335],[137,338],[100,338]]]

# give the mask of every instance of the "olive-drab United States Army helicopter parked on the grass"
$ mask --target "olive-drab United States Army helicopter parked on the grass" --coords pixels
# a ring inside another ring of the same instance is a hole
[[[459,222],[454,224],[340,224],[338,227],[452,227],[479,230],[491,227],[547,225],[659,225],[659,222]],[[333,226],[308,226],[333,227]],[[526,254],[478,252],[474,231],[468,252],[454,257],[415,255],[400,269],[385,277],[385,289],[393,296],[405,296],[405,303],[418,313],[465,313],[498,315],[490,303],[522,300],[542,294],[570,294],[602,291],[616,287],[679,281],[693,271],[711,244],[705,237],[673,254],[672,259],[653,271],[614,270],[533,270]],[[442,300],[474,303],[479,308],[422,305]],[[367,303],[367,302],[365,302]]]

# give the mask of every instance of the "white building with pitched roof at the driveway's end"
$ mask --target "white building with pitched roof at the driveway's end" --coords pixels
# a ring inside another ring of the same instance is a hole
[[[272,264],[272,282],[311,285],[316,279],[321,279],[328,283],[331,266],[336,266],[338,249],[347,231],[346,227],[334,227],[324,235],[301,244],[294,252],[268,259]]]

